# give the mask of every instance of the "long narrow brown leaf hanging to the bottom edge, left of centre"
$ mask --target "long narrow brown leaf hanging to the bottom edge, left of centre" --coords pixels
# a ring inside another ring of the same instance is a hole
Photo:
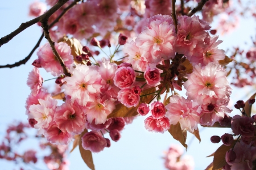
[[[85,150],[83,147],[82,147],[82,141],[81,141],[81,137],[87,133],[88,130],[85,129],[82,134],[80,135],[80,140],[79,140],[79,151],[80,151],[80,154],[82,156],[82,159],[84,160],[85,164],[92,170],[95,170],[94,168],[94,164],[93,164],[93,158],[92,158],[92,152],[89,151],[89,150]]]

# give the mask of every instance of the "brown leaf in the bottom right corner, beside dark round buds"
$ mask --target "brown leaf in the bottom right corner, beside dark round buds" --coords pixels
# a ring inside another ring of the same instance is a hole
[[[236,141],[234,140],[232,145],[226,146],[226,145],[221,145],[216,152],[214,152],[214,157],[213,157],[213,170],[220,169],[225,166],[226,160],[226,152],[230,150],[230,148],[233,147],[234,143]]]

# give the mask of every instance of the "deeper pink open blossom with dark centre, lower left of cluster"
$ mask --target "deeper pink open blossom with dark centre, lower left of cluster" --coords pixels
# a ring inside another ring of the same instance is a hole
[[[85,129],[85,113],[76,102],[72,104],[70,100],[66,100],[57,107],[54,116],[56,125],[63,132],[80,134]]]

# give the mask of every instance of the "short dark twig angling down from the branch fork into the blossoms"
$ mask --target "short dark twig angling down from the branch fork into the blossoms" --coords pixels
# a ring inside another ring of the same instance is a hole
[[[48,40],[49,44],[51,45],[53,54],[55,55],[57,60],[60,62],[60,65],[63,68],[63,73],[65,74],[65,76],[71,76],[71,74],[69,73],[68,67],[65,65],[63,59],[60,57],[60,54],[57,52],[57,50],[55,48],[55,45],[54,45],[55,42],[52,41],[51,36],[49,36],[48,18],[42,19],[41,23],[42,23],[42,27],[44,29],[44,37]]]

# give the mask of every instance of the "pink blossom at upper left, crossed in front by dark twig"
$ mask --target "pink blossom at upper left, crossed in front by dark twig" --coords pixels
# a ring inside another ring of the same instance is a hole
[[[65,42],[55,42],[55,48],[63,59],[65,65],[70,69],[71,64],[73,63],[71,48]],[[42,67],[46,69],[47,72],[51,72],[53,76],[63,74],[60,62],[54,56],[52,48],[48,42],[39,48],[37,55]]]

